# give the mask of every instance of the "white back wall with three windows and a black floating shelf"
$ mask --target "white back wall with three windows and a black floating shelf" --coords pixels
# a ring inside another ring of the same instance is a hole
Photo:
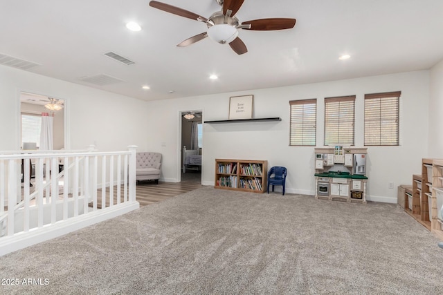
[[[281,117],[281,122],[204,124],[202,182],[214,183],[215,158],[268,160],[287,166],[287,191],[314,194],[314,148],[289,146],[289,101],[318,99],[317,146],[323,146],[324,97],[356,95],[355,145],[363,146],[365,93],[401,91],[401,145],[368,148],[368,200],[397,202],[397,186],[411,184],[428,151],[429,71],[365,77],[317,84],[269,88],[149,102],[157,126],[150,148],[163,154],[163,176],[177,179],[180,111],[201,109],[204,121],[228,119],[230,96],[254,95],[254,117]],[[424,120],[423,120],[424,119]],[[388,182],[394,189],[388,189]]]

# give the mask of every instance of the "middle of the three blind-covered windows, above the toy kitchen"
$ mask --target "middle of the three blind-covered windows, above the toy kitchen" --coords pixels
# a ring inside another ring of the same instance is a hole
[[[325,146],[354,145],[355,95],[325,98]]]

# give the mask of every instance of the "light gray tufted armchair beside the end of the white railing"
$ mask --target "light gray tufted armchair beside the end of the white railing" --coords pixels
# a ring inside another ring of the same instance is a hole
[[[155,180],[159,184],[161,153],[141,152],[136,156],[136,180]]]

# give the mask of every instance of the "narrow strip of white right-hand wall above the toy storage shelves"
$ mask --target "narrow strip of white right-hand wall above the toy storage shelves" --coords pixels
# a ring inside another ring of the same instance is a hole
[[[431,69],[429,158],[443,159],[443,59]]]

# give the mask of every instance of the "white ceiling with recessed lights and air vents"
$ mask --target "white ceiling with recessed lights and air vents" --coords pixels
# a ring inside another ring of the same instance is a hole
[[[220,9],[215,0],[161,2],[203,17]],[[241,30],[248,53],[237,55],[209,38],[176,47],[206,25],[147,0],[0,0],[0,54],[39,64],[33,73],[145,100],[424,70],[443,58],[442,0],[245,0],[236,17],[297,23],[290,30]],[[128,21],[142,30],[127,30]],[[109,51],[135,64],[103,55]],[[352,57],[338,60],[343,54]],[[123,82],[79,79],[99,74]]]

